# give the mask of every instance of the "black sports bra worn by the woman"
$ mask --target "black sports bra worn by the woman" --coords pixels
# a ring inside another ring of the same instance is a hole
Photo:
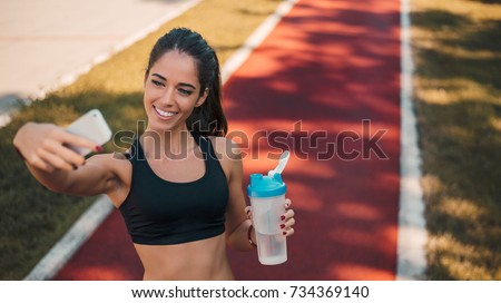
[[[138,139],[126,157],[132,165],[127,198],[119,209],[134,243],[180,244],[225,232],[228,184],[209,138],[191,133],[205,158],[205,174],[188,183],[157,176]]]

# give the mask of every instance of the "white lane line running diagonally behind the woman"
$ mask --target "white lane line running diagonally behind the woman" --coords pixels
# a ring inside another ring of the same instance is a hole
[[[258,47],[263,40],[277,26],[279,20],[297,3],[298,0],[284,0],[263,23],[249,36],[245,43],[226,61],[222,68],[222,80],[225,84],[240,67],[250,51]],[[159,25],[161,26],[161,25]],[[145,31],[146,32],[146,31]],[[140,35],[139,35],[140,36]],[[138,37],[139,37],[138,36]],[[145,35],[146,36],[146,35]],[[138,38],[139,40],[140,38]],[[128,42],[131,45],[134,39]],[[125,43],[127,45],[127,43]],[[128,46],[129,46],[128,45]],[[125,47],[124,47],[125,48]],[[102,59],[106,60],[106,59]],[[84,213],[65,236],[43,256],[24,280],[50,280],[71,258],[78,248],[99,227],[102,221],[111,213],[111,202],[102,196]]]

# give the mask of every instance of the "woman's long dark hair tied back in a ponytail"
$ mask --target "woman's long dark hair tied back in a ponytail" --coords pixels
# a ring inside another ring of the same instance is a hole
[[[151,49],[145,79],[155,62],[170,50],[189,55],[196,61],[200,82],[199,97],[208,89],[206,101],[194,108],[186,120],[186,126],[190,131],[202,136],[224,137],[228,124],[222,107],[222,81],[216,52],[198,32],[187,28],[175,28],[158,39]]]

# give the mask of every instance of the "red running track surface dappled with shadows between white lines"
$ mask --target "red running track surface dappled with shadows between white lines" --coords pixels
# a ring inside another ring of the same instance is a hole
[[[293,152],[283,177],[297,222],[284,264],[228,248],[237,280],[395,278],[399,37],[397,0],[302,0],[226,82],[244,176],[273,168],[281,148]],[[114,211],[55,280],[141,277]]]

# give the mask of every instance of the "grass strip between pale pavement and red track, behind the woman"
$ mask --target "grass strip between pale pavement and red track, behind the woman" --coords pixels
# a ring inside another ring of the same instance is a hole
[[[278,0],[205,0],[134,46],[92,68],[75,84],[24,107],[0,129],[0,280],[21,280],[95,201],[53,194],[39,185],[12,148],[27,121],[66,125],[97,107],[114,133],[136,130],[146,120],[143,77],[149,50],[173,27],[199,31],[216,49],[222,65],[272,13]],[[118,138],[116,138],[118,139]],[[105,146],[111,152],[114,145]]]

